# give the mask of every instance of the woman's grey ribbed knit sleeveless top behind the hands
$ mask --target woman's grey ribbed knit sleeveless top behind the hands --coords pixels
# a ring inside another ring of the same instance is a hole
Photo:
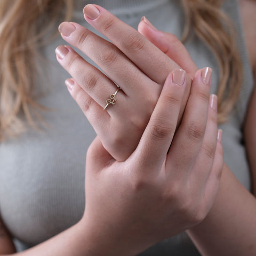
[[[141,17],[145,15],[158,29],[178,37],[182,33],[184,17],[179,1],[74,2],[73,21],[97,34],[99,33],[83,18],[82,10],[87,3],[106,7],[134,28],[137,28]],[[237,0],[226,1],[223,9],[236,24],[237,44],[244,65],[244,82],[233,116],[229,122],[220,126],[223,130],[222,142],[225,162],[241,183],[250,189],[250,174],[242,143],[241,126],[253,88],[253,79]],[[42,50],[47,65],[44,64],[45,74],[38,78],[36,85],[37,91],[43,92],[39,102],[53,109],[43,113],[48,127],[41,133],[29,130],[19,138],[0,144],[0,211],[19,250],[42,243],[74,225],[84,211],[85,156],[95,133],[76,102],[71,99],[64,84],[69,74],[59,65],[54,54],[55,47],[60,44],[66,43],[58,38]],[[216,92],[218,65],[213,54],[195,36],[186,43],[186,47],[199,68],[212,67],[212,92]],[[84,58],[91,62],[85,56]],[[182,233],[154,245],[140,255],[198,256],[199,253],[188,236]]]

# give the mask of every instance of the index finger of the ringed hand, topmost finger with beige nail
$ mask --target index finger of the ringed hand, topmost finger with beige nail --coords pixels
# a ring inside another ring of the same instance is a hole
[[[136,29],[103,7],[87,4],[84,7],[84,18],[156,83],[163,85],[170,71],[180,68]]]

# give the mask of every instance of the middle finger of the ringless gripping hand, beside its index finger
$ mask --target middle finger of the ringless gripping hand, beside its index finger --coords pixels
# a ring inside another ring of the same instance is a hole
[[[183,115],[181,125],[175,134],[166,160],[167,170],[172,179],[188,179],[191,167],[201,148],[210,97],[210,82],[212,70],[204,68],[195,74],[191,92]],[[172,166],[176,168],[172,168]]]

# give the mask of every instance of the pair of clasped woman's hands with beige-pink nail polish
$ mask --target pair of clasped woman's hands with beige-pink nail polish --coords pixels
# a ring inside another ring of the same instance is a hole
[[[74,22],[59,26],[106,74],[57,47],[68,90],[98,134],[80,225],[95,255],[134,255],[210,211],[223,166],[217,97],[211,69],[198,70],[182,43],[145,17],[139,31],[98,5],[86,5],[84,17],[111,43]],[[116,84],[116,103],[103,110]]]

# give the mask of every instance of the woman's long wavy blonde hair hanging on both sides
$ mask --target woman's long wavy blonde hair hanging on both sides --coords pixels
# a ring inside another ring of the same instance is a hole
[[[186,14],[183,39],[193,29],[219,61],[218,115],[219,122],[225,122],[236,103],[243,76],[233,27],[220,10],[220,0],[181,2]],[[37,110],[45,108],[33,95],[36,50],[45,43],[46,35],[56,33],[55,22],[63,5],[63,19],[69,20],[73,0],[0,1],[0,141],[25,131],[26,124],[37,129],[31,109],[39,118]]]

